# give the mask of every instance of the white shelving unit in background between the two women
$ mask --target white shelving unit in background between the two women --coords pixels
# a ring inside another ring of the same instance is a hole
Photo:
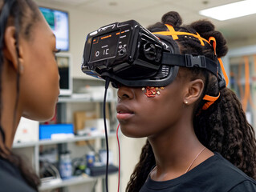
[[[109,102],[116,102],[115,99],[108,100]],[[60,105],[65,105],[64,109],[70,110],[71,106],[69,108],[66,108],[67,105],[76,105],[76,103],[94,103],[96,105],[99,105],[100,103],[103,103],[103,99],[88,99],[88,98],[72,98],[72,97],[60,97],[59,98],[59,104]],[[81,105],[81,104],[79,104]],[[63,113],[63,111],[61,112]],[[69,112],[70,113],[70,112]],[[67,118],[67,117],[66,117]],[[108,138],[115,138],[116,137],[116,132],[115,131],[110,131],[108,133]],[[80,142],[80,141],[90,141],[90,140],[100,140],[100,142],[104,142],[105,140],[105,134],[97,134],[97,135],[87,135],[87,136],[75,136],[74,138],[66,138],[66,139],[46,139],[46,140],[39,140],[38,142],[20,142],[20,143],[14,143],[13,149],[14,150],[27,150],[30,148],[30,150],[33,151],[33,164],[35,167],[35,171],[37,174],[39,174],[39,150],[41,146],[51,146],[51,145],[59,145],[59,144],[67,144],[67,143],[74,143],[74,142]],[[96,182],[99,179],[104,178],[103,176],[99,177],[90,177],[86,174],[82,174],[81,176],[74,176],[72,178],[68,179],[53,179],[51,182],[43,182],[42,185],[39,187],[40,191],[48,191],[48,190],[53,190],[56,188],[60,187],[65,187],[65,186],[74,186],[74,185],[79,185],[79,184],[84,184],[84,183],[89,183],[89,182]],[[98,191],[98,190],[97,190]]]

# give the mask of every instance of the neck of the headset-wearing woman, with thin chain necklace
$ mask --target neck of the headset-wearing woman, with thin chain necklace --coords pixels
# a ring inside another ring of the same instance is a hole
[[[203,150],[204,146],[198,141],[192,123],[188,125],[187,122],[182,122],[180,126],[172,127],[148,140],[156,159],[156,169],[151,174],[156,181],[177,178],[185,174],[189,166],[191,170],[213,155],[211,151]]]

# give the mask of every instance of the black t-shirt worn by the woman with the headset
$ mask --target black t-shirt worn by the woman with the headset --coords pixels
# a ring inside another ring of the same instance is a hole
[[[254,192],[256,182],[221,154],[212,157],[181,177],[165,182],[153,181],[150,177],[140,192]]]

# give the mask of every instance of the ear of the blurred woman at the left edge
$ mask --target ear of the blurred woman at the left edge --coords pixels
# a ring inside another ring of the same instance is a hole
[[[16,50],[17,39],[15,37],[16,29],[14,26],[7,26],[6,32],[4,34],[4,48],[3,53],[8,63],[14,67],[18,73],[22,74],[22,50],[20,46],[18,47],[18,52]],[[17,55],[18,54],[18,55]],[[18,59],[18,60],[17,60]],[[19,61],[19,66],[18,66]]]

